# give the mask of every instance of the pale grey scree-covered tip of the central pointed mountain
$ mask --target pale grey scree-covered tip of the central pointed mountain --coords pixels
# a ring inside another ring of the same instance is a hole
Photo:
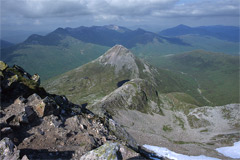
[[[138,72],[136,57],[122,45],[115,45],[97,60],[101,64],[115,66],[116,73],[123,68]]]

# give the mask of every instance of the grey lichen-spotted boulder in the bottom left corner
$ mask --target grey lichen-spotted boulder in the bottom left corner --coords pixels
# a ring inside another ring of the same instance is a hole
[[[0,141],[0,159],[16,160],[19,158],[19,150],[13,144],[11,139],[5,137]]]

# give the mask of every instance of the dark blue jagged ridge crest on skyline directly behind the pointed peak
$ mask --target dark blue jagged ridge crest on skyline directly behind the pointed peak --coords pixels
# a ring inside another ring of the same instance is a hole
[[[61,35],[61,36],[60,36]],[[154,39],[162,42],[166,40],[172,44],[189,45],[178,38],[162,37],[158,34],[145,31],[143,29],[130,30],[125,27],[107,25],[78,28],[58,28],[46,36],[32,35],[25,44],[57,45],[65,37],[71,36],[86,43],[93,43],[112,47],[116,44],[122,44],[128,48],[136,44],[147,44]]]

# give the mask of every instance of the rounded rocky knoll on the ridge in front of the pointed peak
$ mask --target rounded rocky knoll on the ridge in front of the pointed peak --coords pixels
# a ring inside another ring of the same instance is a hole
[[[95,102],[89,109],[99,116],[118,114],[119,109],[137,110],[142,113],[163,114],[155,88],[143,79],[133,79]]]

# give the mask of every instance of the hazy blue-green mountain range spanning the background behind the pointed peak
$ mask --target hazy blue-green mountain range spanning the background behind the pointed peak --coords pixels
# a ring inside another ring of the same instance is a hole
[[[221,32],[228,34],[224,29]],[[97,58],[115,44],[126,46],[141,58],[196,49],[227,54],[239,53],[238,42],[211,35],[187,34],[170,37],[143,29],[130,30],[121,26],[106,25],[58,28],[46,36],[33,34],[22,43],[1,49],[1,59],[10,65],[21,65],[31,74],[38,73],[46,80]]]

